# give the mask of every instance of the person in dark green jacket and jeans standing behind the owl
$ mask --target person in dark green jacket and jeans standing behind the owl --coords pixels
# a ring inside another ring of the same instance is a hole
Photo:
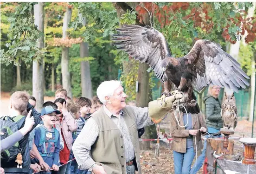
[[[204,97],[203,101],[206,106],[206,125],[209,133],[217,133],[223,127],[223,120],[221,118],[221,102],[219,100],[220,87],[216,85],[210,85],[208,88],[208,95]],[[214,138],[221,137],[216,136]],[[206,136],[208,138],[208,135]],[[197,158],[197,163],[191,169],[191,174],[196,174],[203,165],[204,159],[206,157],[206,140],[204,141],[204,146],[202,154]]]

